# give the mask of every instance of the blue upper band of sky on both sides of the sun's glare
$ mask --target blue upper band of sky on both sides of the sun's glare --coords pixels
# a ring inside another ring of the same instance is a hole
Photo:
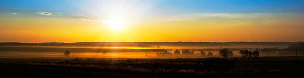
[[[0,0],[2,12],[41,11],[41,12],[79,12],[73,3],[88,0]],[[94,0],[89,0],[94,2]],[[110,0],[119,2],[119,0]],[[304,12],[304,0],[139,0],[156,2],[155,11],[174,13],[252,13],[252,12]],[[102,2],[107,2],[106,0]],[[85,5],[85,4],[84,4]],[[140,6],[139,6],[140,7]]]

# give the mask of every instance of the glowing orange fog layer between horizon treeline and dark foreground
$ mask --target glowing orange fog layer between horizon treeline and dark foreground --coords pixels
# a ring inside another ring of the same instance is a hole
[[[0,58],[206,58],[220,57],[219,50],[228,48],[233,51],[233,56],[240,57],[240,50],[253,50],[255,48],[287,48],[288,46],[265,45],[229,45],[229,46],[0,46]],[[71,56],[64,56],[64,52],[71,51]],[[192,54],[176,55],[174,51],[188,50]],[[201,51],[213,56],[202,56]],[[280,54],[279,54],[280,52]],[[161,55],[157,55],[161,53]],[[261,51],[260,56],[295,56],[293,51]],[[303,55],[299,52],[298,55]]]

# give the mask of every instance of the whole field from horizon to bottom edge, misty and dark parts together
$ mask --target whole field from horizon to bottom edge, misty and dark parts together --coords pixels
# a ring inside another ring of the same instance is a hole
[[[0,75],[1,78],[304,78],[304,43],[293,46],[300,42],[116,43],[121,45],[1,43]],[[226,47],[233,51],[233,56],[219,55],[219,50]],[[175,50],[181,54],[175,54]],[[183,54],[185,50],[193,53]],[[241,58],[240,50],[258,50],[260,54]],[[71,51],[70,55],[64,55],[65,51]],[[201,51],[213,55],[201,55]]]

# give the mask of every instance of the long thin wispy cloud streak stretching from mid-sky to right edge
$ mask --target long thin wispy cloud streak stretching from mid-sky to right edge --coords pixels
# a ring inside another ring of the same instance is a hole
[[[299,13],[188,13],[156,19],[157,21],[182,21],[204,18],[221,19],[269,19],[269,18],[300,18]],[[156,22],[157,22],[156,21]]]

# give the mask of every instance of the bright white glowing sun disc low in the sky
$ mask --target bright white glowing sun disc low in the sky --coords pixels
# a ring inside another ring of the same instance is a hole
[[[123,28],[126,26],[126,22],[122,19],[112,19],[105,21],[104,23],[106,23],[113,31],[123,30]]]

